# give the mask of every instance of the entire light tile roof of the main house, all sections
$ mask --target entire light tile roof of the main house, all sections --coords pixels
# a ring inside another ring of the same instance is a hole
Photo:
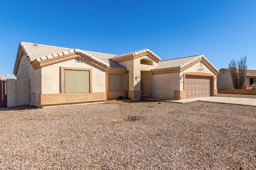
[[[82,53],[82,54],[90,57],[91,59],[94,59],[95,61],[98,61],[106,66],[109,66],[110,68],[125,69],[125,67],[112,61],[111,59],[114,59],[117,57],[124,57],[124,56],[128,56],[128,55],[138,55],[138,54],[144,53],[144,52],[149,52],[160,60],[160,57],[158,57],[156,54],[154,54],[149,49],[142,49],[142,50],[133,51],[130,53],[125,53],[122,55],[113,55],[113,54],[106,54],[106,53],[97,53],[97,52],[92,52],[92,51],[83,51],[80,49],[70,49],[70,48],[55,47],[55,46],[50,46],[50,45],[25,43],[25,42],[21,42],[19,45],[19,48],[22,48],[24,55],[26,55],[26,57],[30,61],[30,63],[35,60],[43,61],[43,60],[47,60],[47,59],[52,59],[54,57],[68,55],[71,53]],[[18,55],[18,53],[17,53],[17,55]],[[187,64],[200,59],[201,57],[203,57],[206,61],[208,61],[204,57],[204,55],[193,55],[193,56],[176,58],[176,59],[168,59],[168,60],[160,61],[158,63],[158,66],[156,68],[154,68],[153,70],[162,69],[162,68],[174,68],[174,67],[182,68],[182,67],[186,66]],[[215,68],[215,67],[213,66],[213,68]]]

